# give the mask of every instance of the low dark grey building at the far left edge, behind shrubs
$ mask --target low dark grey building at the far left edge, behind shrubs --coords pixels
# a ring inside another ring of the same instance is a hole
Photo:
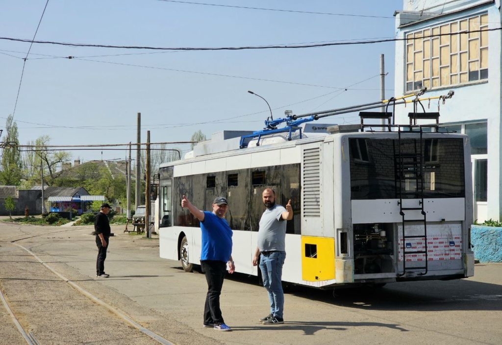
[[[12,197],[16,205],[12,215],[24,215],[26,208],[28,208],[30,215],[40,214],[42,210],[41,192],[40,190],[17,190],[16,186],[0,186],[0,216],[9,215],[9,211],[4,207],[8,197]]]

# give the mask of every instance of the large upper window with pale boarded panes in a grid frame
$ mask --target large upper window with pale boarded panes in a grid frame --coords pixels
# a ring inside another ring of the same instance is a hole
[[[487,29],[482,14],[406,34],[406,91],[487,79]]]

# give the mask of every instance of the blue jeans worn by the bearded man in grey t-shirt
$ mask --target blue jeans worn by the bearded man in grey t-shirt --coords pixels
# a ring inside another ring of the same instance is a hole
[[[282,290],[282,267],[286,252],[264,252],[260,258],[263,286],[269,293],[270,313],[283,318],[284,292]]]

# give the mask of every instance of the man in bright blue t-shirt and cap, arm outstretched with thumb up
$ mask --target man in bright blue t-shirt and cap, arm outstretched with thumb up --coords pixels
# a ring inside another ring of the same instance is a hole
[[[228,201],[223,197],[214,199],[213,212],[201,211],[183,196],[181,207],[186,207],[200,221],[202,250],[200,266],[206,275],[207,295],[204,305],[204,327],[217,330],[231,330],[223,321],[219,306],[219,296],[228,262],[229,273],[235,271],[232,260],[232,230],[225,220]]]

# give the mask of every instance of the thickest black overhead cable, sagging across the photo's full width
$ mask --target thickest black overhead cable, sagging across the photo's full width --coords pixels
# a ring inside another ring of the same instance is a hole
[[[435,34],[427,35],[416,38],[389,38],[380,40],[359,40],[359,41],[346,41],[346,42],[333,42],[333,43],[314,43],[314,44],[299,44],[299,45],[269,45],[269,46],[246,46],[246,47],[148,47],[148,46],[117,46],[117,45],[103,45],[103,44],[86,44],[86,43],[65,43],[65,42],[55,42],[55,41],[33,41],[39,44],[52,44],[59,46],[68,47],[93,47],[93,48],[115,48],[115,49],[147,49],[147,50],[179,50],[179,51],[218,51],[218,50],[257,50],[257,49],[298,49],[298,48],[320,48],[320,47],[331,47],[331,46],[350,46],[350,45],[362,45],[362,44],[374,44],[374,43],[385,43],[385,42],[398,42],[398,41],[410,41],[410,40],[422,40],[431,37],[441,37],[441,36],[452,36],[458,34],[469,34],[476,32],[485,31],[499,31],[502,28],[492,28],[492,29],[480,29],[480,30],[464,30],[456,33],[445,33],[445,34]],[[0,40],[14,41],[14,42],[32,42],[31,40],[12,38],[12,37],[0,37]],[[73,57],[68,57],[72,59]]]

